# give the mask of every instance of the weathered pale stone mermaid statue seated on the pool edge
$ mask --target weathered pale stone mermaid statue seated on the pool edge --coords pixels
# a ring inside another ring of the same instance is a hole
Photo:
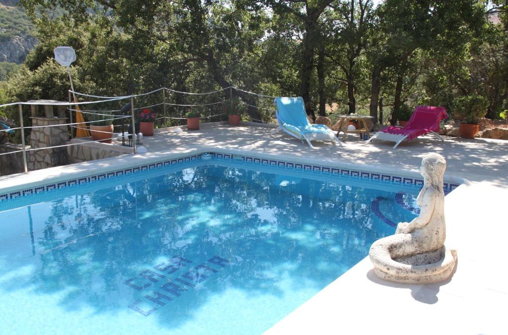
[[[455,250],[444,247],[444,158],[435,153],[422,160],[424,178],[418,195],[420,215],[397,225],[395,235],[379,239],[369,251],[377,277],[398,283],[424,284],[450,277],[457,262]]]

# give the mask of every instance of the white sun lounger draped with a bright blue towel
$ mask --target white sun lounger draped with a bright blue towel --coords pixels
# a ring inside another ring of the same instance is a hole
[[[275,116],[279,122],[277,130],[283,130],[289,135],[297,139],[307,141],[308,145],[313,148],[310,141],[336,141],[339,146],[342,146],[339,139],[335,136],[332,129],[324,124],[311,124],[307,119],[305,113],[305,105],[303,98],[298,97],[277,97],[273,99],[277,108]]]

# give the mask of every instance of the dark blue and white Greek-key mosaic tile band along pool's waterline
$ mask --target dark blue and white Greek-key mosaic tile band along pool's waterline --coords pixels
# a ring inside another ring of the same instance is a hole
[[[218,152],[208,152],[209,155],[216,159],[224,159],[224,160],[241,160],[244,163],[251,163],[254,165],[263,165],[263,166],[272,166],[275,168],[282,168],[285,170],[294,170],[294,171],[305,171],[307,173],[316,173],[316,174],[326,174],[326,175],[342,175],[347,176],[351,178],[358,178],[358,179],[369,179],[372,181],[381,181],[381,182],[392,182],[392,183],[399,183],[402,185],[407,186],[417,186],[422,187],[423,186],[423,180],[418,178],[409,178],[409,177],[401,177],[396,175],[387,175],[387,174],[380,174],[375,172],[366,172],[366,171],[359,171],[359,170],[352,170],[352,169],[340,169],[340,168],[331,168],[330,166],[323,166],[323,165],[313,165],[313,164],[306,164],[306,163],[296,163],[296,162],[289,162],[284,160],[277,160],[277,159],[267,159],[267,158],[258,158],[253,156],[243,156],[243,155],[233,155],[233,154],[225,154],[225,153],[218,153]],[[31,194],[38,194],[42,192],[51,191],[54,189],[60,189],[65,188],[69,186],[79,185],[83,183],[91,183],[100,181],[103,179],[109,179],[116,176],[124,176],[132,173],[136,173],[139,171],[146,171],[146,170],[152,170],[152,169],[160,169],[165,166],[170,165],[176,165],[180,163],[188,163],[191,161],[196,161],[202,158],[203,154],[198,155],[190,155],[180,158],[173,158],[169,160],[164,160],[161,162],[155,162],[155,163],[149,163],[141,166],[135,166],[133,168],[108,172],[108,173],[102,173],[98,175],[91,175],[87,177],[81,177],[76,178],[72,180],[67,181],[61,181],[53,184],[43,185],[43,186],[37,186],[32,188],[27,188],[19,191],[13,191],[9,193],[0,194],[0,202],[8,200],[8,199],[14,199],[21,196],[28,196]],[[443,188],[445,193],[449,193],[455,188],[457,188],[459,184],[453,184],[453,183],[444,183]]]

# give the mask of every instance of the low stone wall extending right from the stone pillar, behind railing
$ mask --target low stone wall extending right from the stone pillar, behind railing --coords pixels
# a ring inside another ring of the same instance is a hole
[[[81,163],[88,160],[115,157],[132,153],[132,148],[113,144],[90,142],[91,138],[72,139],[68,144],[77,144],[67,147],[69,163]]]

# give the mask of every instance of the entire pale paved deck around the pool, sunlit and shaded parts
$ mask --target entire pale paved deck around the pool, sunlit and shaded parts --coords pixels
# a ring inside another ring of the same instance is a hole
[[[0,177],[0,193],[41,181],[66,180],[141,165],[162,157],[205,151],[277,157],[359,170],[416,176],[423,156],[447,159],[448,180],[467,179],[446,196],[447,246],[458,250],[450,280],[402,285],[375,277],[366,257],[350,271],[282,319],[269,334],[507,334],[508,321],[508,141],[423,137],[392,149],[348,136],[342,147],[315,149],[271,128],[202,126],[180,133],[163,131],[143,139],[148,153],[61,166]],[[92,171],[92,172],[91,172]]]

